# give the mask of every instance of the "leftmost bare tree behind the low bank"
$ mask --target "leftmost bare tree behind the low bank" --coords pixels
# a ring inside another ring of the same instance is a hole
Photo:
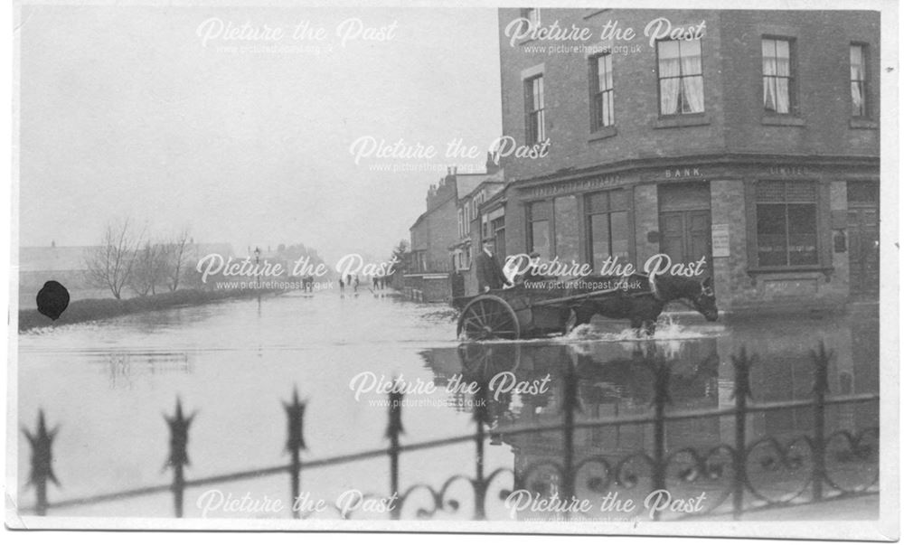
[[[139,240],[128,220],[109,223],[100,245],[87,256],[89,281],[122,298],[122,289],[135,268]]]

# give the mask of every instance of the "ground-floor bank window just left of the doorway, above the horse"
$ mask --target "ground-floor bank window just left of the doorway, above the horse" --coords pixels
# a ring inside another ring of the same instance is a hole
[[[627,193],[625,190],[590,193],[585,197],[590,266],[602,267],[609,256],[626,263],[629,230],[627,225]]]

